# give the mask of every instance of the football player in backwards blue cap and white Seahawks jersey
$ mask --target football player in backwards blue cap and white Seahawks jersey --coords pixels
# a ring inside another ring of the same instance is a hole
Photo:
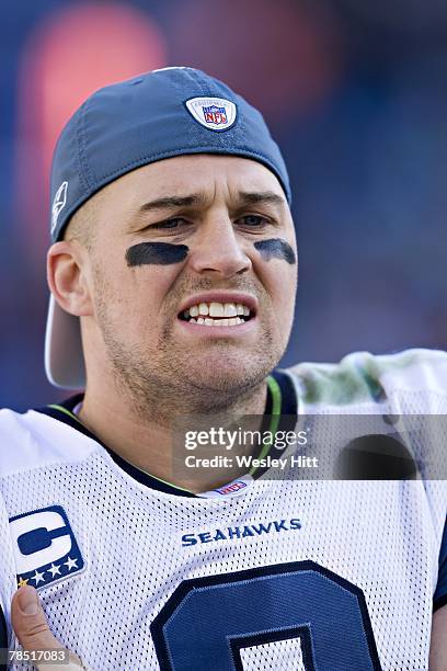
[[[268,441],[257,467],[191,470],[175,442],[182,418],[276,436],[284,418],[447,410],[440,352],[275,369],[297,249],[261,115],[190,68],[107,87],[64,129],[51,197],[47,373],[85,391],[0,416],[11,648],[14,630],[94,670],[396,671],[427,668],[433,625],[445,669],[443,482],[278,479]]]

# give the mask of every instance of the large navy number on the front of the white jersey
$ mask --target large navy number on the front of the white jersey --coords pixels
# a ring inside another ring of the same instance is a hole
[[[185,580],[151,633],[161,671],[243,671],[242,648],[298,637],[306,671],[381,671],[363,591],[313,561]]]

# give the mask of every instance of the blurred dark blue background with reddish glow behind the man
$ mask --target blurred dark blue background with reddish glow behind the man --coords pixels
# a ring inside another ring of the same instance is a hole
[[[299,242],[283,365],[447,342],[445,0],[2,0],[0,406],[55,401],[43,366],[48,172],[96,88],[169,65],[257,105]]]

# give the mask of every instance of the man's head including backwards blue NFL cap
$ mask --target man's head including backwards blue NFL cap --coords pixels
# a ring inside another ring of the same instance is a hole
[[[58,333],[79,332],[80,318],[90,377],[108,369],[140,396],[145,385],[249,388],[276,365],[293,319],[296,242],[279,151],[261,115],[202,72],[124,84],[94,94],[56,150],[47,371],[76,386],[57,369]]]

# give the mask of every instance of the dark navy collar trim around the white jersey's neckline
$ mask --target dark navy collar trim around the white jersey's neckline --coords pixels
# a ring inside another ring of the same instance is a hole
[[[272,377],[275,378],[275,380],[277,382],[280,388],[280,393],[282,393],[280,414],[285,416],[285,419],[286,421],[288,420],[288,423],[290,422],[290,416],[293,416],[294,427],[295,427],[298,403],[297,403],[297,397],[296,397],[294,385],[290,378],[288,377],[288,375],[286,375],[285,373],[280,371],[274,371],[271,375]],[[76,429],[80,433],[83,433],[88,437],[92,439],[93,441],[102,445],[104,450],[106,450],[108,455],[112,457],[112,459],[115,462],[115,464],[117,464],[117,466],[119,466],[119,468],[122,468],[125,473],[127,473],[131,478],[137,480],[137,482],[140,482],[141,485],[145,485],[146,487],[150,487],[151,489],[156,489],[157,491],[175,494],[177,497],[187,497],[187,498],[193,498],[193,499],[199,498],[191,491],[181,489],[179,487],[175,487],[174,485],[164,482],[163,480],[159,480],[158,478],[154,478],[153,476],[140,470],[133,464],[129,464],[129,462],[126,462],[126,459],[123,459],[123,457],[116,454],[116,452],[113,452],[113,450],[107,447],[107,445],[104,445],[104,443],[100,441],[100,439],[96,435],[94,435],[91,431],[89,431],[89,429],[84,427],[82,422],[72,414],[73,409],[82,400],[83,400],[83,394],[77,394],[61,401],[60,403],[58,403],[58,406],[60,406],[61,409],[58,409],[56,406],[45,406],[44,408],[35,408],[35,411],[42,412],[43,414],[53,417],[53,419],[56,419],[59,422],[64,422],[65,424],[68,424],[72,429]],[[271,414],[272,407],[273,407],[273,399],[272,399],[271,390],[267,385],[267,400],[265,403],[264,414],[266,416]],[[62,408],[65,408],[65,411],[62,410]],[[280,429],[284,428],[282,423],[279,424],[279,428]],[[262,471],[261,470],[256,471],[255,477],[259,477],[264,471],[265,469]]]

